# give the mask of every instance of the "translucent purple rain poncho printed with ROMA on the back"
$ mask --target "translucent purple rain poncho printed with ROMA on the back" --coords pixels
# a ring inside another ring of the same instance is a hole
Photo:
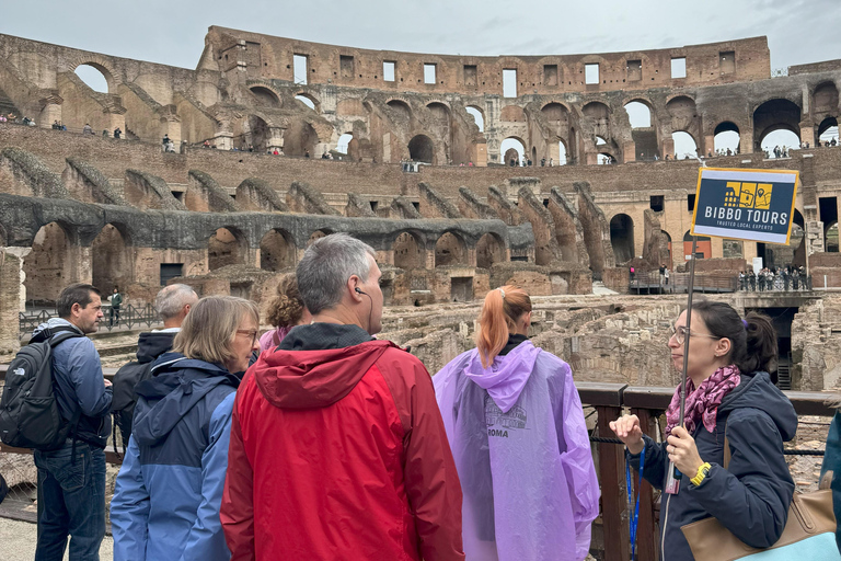
[[[466,560],[585,559],[599,482],[569,366],[526,341],[486,369],[468,351],[433,382],[464,495]]]

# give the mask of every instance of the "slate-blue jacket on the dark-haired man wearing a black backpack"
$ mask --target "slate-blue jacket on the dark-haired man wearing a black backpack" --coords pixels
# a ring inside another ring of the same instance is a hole
[[[72,328],[72,323],[51,318],[42,323],[32,335],[35,337],[47,328]],[[88,337],[68,339],[53,350],[53,383],[61,416],[70,420],[81,409],[77,436],[104,448],[111,436],[111,386],[105,387],[100,353]]]

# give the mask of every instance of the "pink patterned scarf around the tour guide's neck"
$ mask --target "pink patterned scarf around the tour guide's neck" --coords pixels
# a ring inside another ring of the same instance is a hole
[[[735,364],[723,366],[702,381],[698,389],[695,389],[692,379],[687,379],[687,405],[683,411],[683,424],[689,434],[695,431],[699,420],[703,421],[704,427],[708,432],[715,431],[718,405],[722,404],[724,397],[741,381],[739,374],[739,368]],[[675,389],[669,409],[666,410],[667,437],[671,434],[672,428],[680,425],[679,416],[680,385]]]

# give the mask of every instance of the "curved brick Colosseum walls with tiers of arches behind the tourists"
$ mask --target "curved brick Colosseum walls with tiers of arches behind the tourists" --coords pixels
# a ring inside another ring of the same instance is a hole
[[[629,263],[681,268],[689,253],[699,162],[650,161],[673,153],[675,133],[702,154],[736,133],[739,153],[714,167],[800,172],[791,247],[702,241],[701,274],[757,256],[805,264],[808,252],[816,278],[841,286],[841,148],[814,148],[841,113],[841,61],[771,78],[764,37],[462,57],[214,26],[195,70],[9,35],[0,55],[0,112],[37,124],[0,123],[0,353],[16,346],[10,310],[48,305],[70,282],[118,285],[134,301],[175,278],[260,299],[336,231],[377,250],[391,306],[468,302],[506,283],[561,300],[594,282],[623,293]],[[74,73],[85,65],[107,91]],[[650,126],[631,125],[632,102]],[[76,134],[85,124],[96,134]],[[767,159],[760,144],[779,129],[809,148]],[[164,134],[175,152],[161,150]],[[531,168],[508,165],[511,142]],[[597,165],[606,157],[618,163]]]

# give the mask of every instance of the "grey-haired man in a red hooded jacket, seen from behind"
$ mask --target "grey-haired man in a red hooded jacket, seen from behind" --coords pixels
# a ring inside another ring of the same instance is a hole
[[[461,485],[424,365],[381,329],[373,250],[298,264],[313,316],[237,394],[221,518],[232,560],[462,560]]]

